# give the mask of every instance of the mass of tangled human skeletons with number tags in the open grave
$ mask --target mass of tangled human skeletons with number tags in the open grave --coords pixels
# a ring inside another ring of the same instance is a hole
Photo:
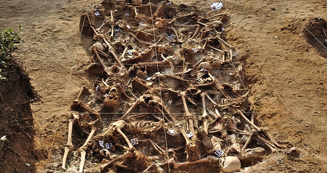
[[[71,104],[63,169],[234,172],[284,147],[255,125],[227,15],[207,10],[115,0],[81,16],[94,83]]]

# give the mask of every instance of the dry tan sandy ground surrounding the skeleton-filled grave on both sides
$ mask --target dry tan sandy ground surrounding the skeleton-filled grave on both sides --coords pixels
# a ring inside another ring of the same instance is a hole
[[[212,2],[189,1],[198,8]],[[87,49],[92,40],[79,40],[80,15],[90,3],[3,0],[0,4],[0,26],[16,31],[19,25],[25,28],[21,34],[25,43],[18,58],[25,62],[32,85],[42,96],[43,104],[32,105],[35,150],[39,153],[39,161],[32,163],[36,172],[61,172],[69,105],[82,85],[91,85],[82,69],[90,60]],[[319,29],[327,28],[323,20],[327,2],[223,3],[229,16],[226,39],[244,63],[244,82],[251,88],[259,125],[269,129],[277,141],[296,148],[292,154],[270,154],[242,172],[327,172],[327,38]]]

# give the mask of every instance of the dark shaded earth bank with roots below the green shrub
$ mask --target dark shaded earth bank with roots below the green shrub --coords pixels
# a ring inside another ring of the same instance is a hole
[[[21,63],[7,60],[0,80],[1,172],[34,172],[38,151],[34,150],[34,120],[30,103],[39,100]]]

